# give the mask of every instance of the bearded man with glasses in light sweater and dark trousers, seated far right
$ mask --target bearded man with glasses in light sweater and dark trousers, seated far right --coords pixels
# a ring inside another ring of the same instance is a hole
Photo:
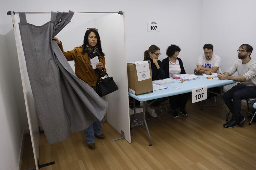
[[[240,81],[223,95],[223,100],[232,113],[231,120],[223,125],[226,128],[243,126],[245,117],[240,114],[241,100],[256,98],[256,61],[250,57],[252,50],[249,44],[242,44],[237,50],[239,60],[218,76],[222,80]],[[236,71],[238,76],[232,76]]]

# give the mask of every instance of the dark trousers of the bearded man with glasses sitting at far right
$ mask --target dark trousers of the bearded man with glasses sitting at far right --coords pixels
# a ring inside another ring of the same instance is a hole
[[[256,86],[238,83],[223,94],[223,100],[232,113],[232,119],[238,120],[240,118],[241,100],[249,98],[256,98]]]

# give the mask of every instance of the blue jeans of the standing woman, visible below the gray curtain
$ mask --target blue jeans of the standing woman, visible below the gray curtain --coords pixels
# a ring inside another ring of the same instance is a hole
[[[94,143],[94,135],[101,135],[101,124],[100,121],[96,120],[87,129],[84,129],[84,135],[87,144]]]

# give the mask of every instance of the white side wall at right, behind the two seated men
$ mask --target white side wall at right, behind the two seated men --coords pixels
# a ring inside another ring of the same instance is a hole
[[[204,0],[202,19],[202,42],[211,43],[214,53],[221,57],[224,72],[236,60],[241,44],[250,44],[256,60],[256,1],[254,0]],[[203,51],[202,51],[203,52]]]

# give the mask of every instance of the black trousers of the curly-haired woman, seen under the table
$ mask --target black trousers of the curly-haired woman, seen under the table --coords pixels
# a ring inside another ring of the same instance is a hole
[[[185,109],[187,101],[189,99],[190,93],[184,93],[180,95],[170,96],[169,102],[171,104],[171,108],[176,110],[178,107],[181,109]]]

